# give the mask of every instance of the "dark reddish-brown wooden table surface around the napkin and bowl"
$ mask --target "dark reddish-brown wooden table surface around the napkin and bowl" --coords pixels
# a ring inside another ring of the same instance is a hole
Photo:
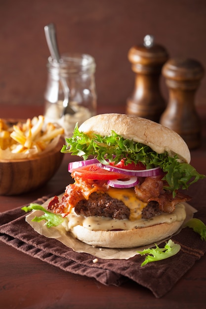
[[[112,111],[112,107],[99,110]],[[0,117],[32,117],[41,107],[1,106]],[[191,151],[191,164],[206,174],[206,108],[200,109],[202,146]],[[0,196],[0,212],[30,203],[49,193],[64,191],[68,184],[68,156],[55,176],[41,189],[19,196]],[[197,261],[161,299],[146,288],[128,281],[120,287],[104,286],[94,279],[75,275],[32,258],[0,241],[0,308],[2,309],[203,309],[206,304],[206,255]]]

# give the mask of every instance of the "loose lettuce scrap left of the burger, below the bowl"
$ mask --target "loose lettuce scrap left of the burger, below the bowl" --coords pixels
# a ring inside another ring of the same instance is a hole
[[[46,210],[43,206],[41,206],[39,204],[32,203],[29,206],[22,207],[21,209],[26,211],[26,212],[32,211],[32,210],[43,211],[44,214],[42,216],[40,216],[40,217],[35,216],[34,219],[32,219],[32,221],[40,222],[40,221],[44,220],[47,228],[57,227],[58,225],[60,225],[64,221],[64,219],[62,218],[61,215],[54,214],[54,213]]]

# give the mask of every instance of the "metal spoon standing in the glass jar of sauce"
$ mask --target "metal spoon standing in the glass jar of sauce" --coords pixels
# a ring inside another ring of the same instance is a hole
[[[60,53],[58,50],[57,40],[56,40],[56,30],[53,23],[50,23],[44,27],[45,37],[50,51],[51,57],[53,60],[56,60],[57,63],[60,63]],[[75,111],[69,105],[69,87],[65,78],[60,77],[62,84],[62,89],[64,92],[64,101],[63,101],[63,112],[62,116],[65,114],[74,115]]]

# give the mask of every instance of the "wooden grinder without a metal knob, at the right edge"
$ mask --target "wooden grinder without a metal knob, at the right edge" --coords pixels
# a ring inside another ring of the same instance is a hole
[[[195,109],[195,93],[204,76],[204,68],[193,59],[170,59],[162,73],[169,88],[169,101],[160,123],[176,131],[189,149],[195,149],[201,144],[201,121]]]

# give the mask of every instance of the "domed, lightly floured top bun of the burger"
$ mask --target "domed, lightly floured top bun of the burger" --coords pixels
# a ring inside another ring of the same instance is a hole
[[[84,121],[79,130],[102,136],[111,135],[113,130],[124,138],[148,145],[158,154],[165,151],[170,156],[177,154],[181,162],[190,163],[190,151],[179,134],[149,119],[124,114],[102,114]]]

